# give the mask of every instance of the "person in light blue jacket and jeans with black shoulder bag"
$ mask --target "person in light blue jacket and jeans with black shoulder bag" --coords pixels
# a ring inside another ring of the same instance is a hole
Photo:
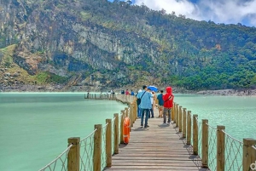
[[[141,117],[141,126],[143,127],[143,122],[144,122],[144,116],[145,116],[145,124],[144,128],[148,128],[148,115],[149,115],[149,110],[152,108],[151,105],[151,100],[150,98],[152,97],[152,94],[150,94],[147,91],[147,86],[143,85],[143,91],[137,94],[137,99],[141,100],[140,108],[142,111],[142,117]]]

